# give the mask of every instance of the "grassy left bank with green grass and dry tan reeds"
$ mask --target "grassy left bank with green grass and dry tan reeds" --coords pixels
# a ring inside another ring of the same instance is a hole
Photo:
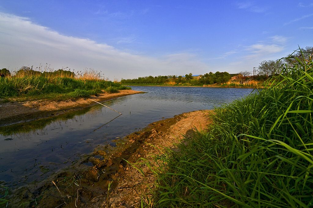
[[[0,98],[44,96],[59,99],[71,99],[89,97],[91,94],[105,90],[115,93],[120,89],[129,89],[114,83],[100,79],[95,73],[81,76],[66,70],[56,72],[44,72],[34,70],[19,70],[14,76],[0,79]]]

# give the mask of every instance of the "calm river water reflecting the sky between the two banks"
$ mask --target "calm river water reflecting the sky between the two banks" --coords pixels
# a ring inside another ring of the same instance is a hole
[[[51,119],[0,128],[0,181],[8,185],[44,179],[99,144],[114,145],[147,124],[199,109],[213,109],[251,93],[252,89],[132,87],[147,92]],[[43,168],[44,167],[44,168]],[[48,172],[47,172],[48,171]]]

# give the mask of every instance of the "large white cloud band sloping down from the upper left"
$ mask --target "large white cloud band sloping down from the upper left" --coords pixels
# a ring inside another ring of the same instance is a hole
[[[208,66],[191,53],[154,58],[118,50],[90,39],[64,36],[28,18],[0,12],[0,67],[48,63],[54,69],[93,68],[113,79],[202,73]],[[125,39],[124,41],[127,41]],[[129,40],[131,41],[131,40]]]

